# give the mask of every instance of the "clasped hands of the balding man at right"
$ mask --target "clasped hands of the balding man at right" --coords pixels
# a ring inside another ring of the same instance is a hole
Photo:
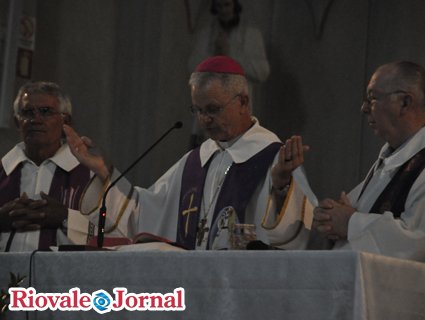
[[[355,211],[345,192],[342,192],[338,201],[325,199],[319,203],[313,212],[312,228],[330,240],[346,239],[348,222]]]

